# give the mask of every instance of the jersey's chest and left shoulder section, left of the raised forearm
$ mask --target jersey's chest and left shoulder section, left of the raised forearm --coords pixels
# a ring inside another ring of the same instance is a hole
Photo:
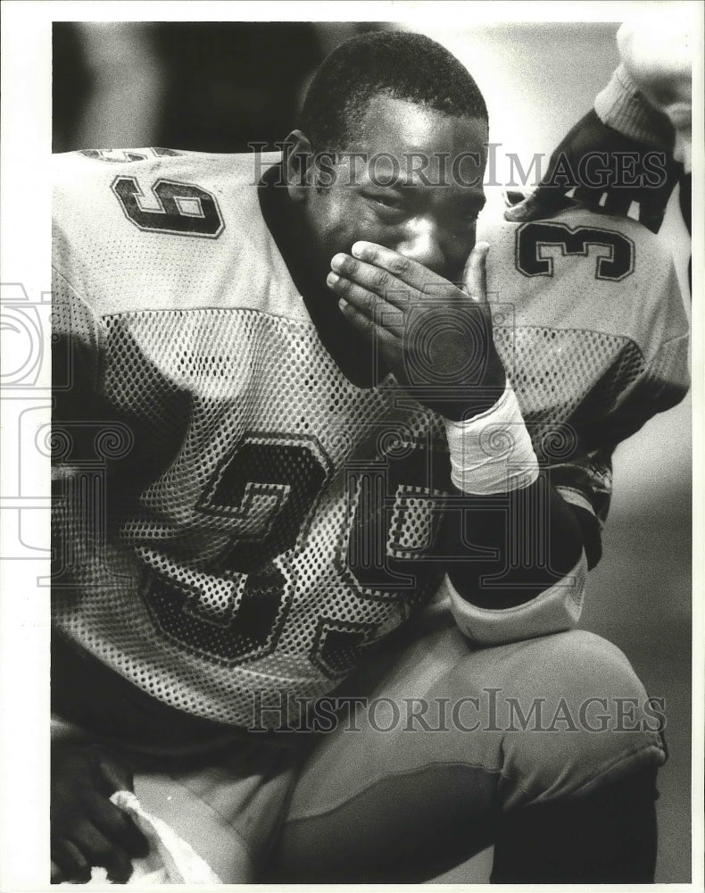
[[[252,156],[57,168],[55,333],[73,379],[56,625],[154,697],[250,726],[255,697],[323,694],[435,595],[443,568],[418,559],[448,489],[443,428],[396,408],[391,378],[357,388],[338,370]]]

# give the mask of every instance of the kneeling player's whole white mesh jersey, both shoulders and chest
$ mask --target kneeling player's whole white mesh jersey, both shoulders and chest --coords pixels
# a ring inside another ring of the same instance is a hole
[[[434,597],[450,492],[442,421],[391,376],[355,387],[321,345],[261,217],[276,160],[55,162],[54,623],[164,703],[245,727],[334,688]],[[651,234],[580,215],[491,233],[488,284],[535,448],[603,518],[612,447],[684,393],[686,334]],[[582,254],[561,249],[574,230]]]

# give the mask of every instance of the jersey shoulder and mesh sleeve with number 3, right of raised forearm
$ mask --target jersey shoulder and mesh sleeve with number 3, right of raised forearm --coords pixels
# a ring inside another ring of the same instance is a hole
[[[688,322],[673,261],[635,221],[571,207],[495,221],[494,341],[537,455],[564,498],[601,524],[614,447],[688,387]]]

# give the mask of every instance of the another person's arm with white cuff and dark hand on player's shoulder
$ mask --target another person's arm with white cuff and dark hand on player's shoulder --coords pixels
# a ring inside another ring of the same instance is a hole
[[[535,192],[505,212],[507,220],[550,217],[575,189],[595,210],[636,213],[659,231],[678,178],[691,168],[688,22],[671,13],[646,17],[622,25],[617,39],[620,64],[610,82],[556,146]],[[591,174],[591,156],[609,176]]]

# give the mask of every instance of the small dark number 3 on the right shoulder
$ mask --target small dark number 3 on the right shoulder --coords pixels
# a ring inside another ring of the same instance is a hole
[[[543,257],[542,248],[558,246],[563,256],[588,256],[591,246],[609,249],[610,254],[596,259],[595,279],[619,282],[634,272],[635,245],[615,230],[576,227],[566,223],[541,221],[525,223],[517,230],[517,269],[525,276],[552,276],[553,258]]]

